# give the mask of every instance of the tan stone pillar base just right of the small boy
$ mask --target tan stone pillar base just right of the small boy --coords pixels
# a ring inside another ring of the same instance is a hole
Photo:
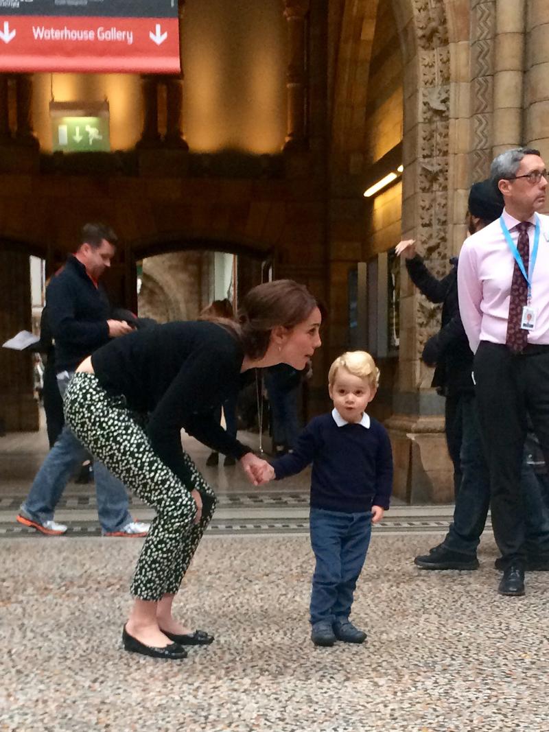
[[[398,415],[385,422],[395,461],[393,495],[408,504],[454,500],[454,468],[444,435],[444,417]]]

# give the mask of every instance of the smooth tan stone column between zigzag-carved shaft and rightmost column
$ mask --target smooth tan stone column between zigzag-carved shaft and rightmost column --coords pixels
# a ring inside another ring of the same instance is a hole
[[[523,141],[525,20],[525,0],[496,0],[493,157]]]

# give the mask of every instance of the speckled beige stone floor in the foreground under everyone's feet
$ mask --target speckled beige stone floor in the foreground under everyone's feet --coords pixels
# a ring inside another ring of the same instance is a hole
[[[208,535],[179,608],[216,641],[168,662],[119,648],[141,540],[4,539],[0,730],[548,732],[549,575],[499,597],[490,539],[477,572],[414,567],[436,541],[376,534],[367,643],[317,649],[307,537]]]

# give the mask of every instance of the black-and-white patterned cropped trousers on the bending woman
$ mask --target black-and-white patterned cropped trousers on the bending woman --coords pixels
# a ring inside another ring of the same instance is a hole
[[[186,453],[193,485],[183,485],[158,458],[124,397],[108,395],[94,374],[75,374],[64,409],[67,425],[91,455],[156,511],[135,567],[132,594],[141,600],[160,600],[176,593],[212,519],[214,491]],[[193,489],[203,503],[198,524]]]

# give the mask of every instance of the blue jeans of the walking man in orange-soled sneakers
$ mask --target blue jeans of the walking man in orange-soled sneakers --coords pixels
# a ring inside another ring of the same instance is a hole
[[[57,383],[61,396],[67,390],[72,373],[58,374]],[[43,523],[53,519],[56,505],[75,468],[86,460],[88,453],[68,427],[63,427],[56,443],[37,472],[29,495],[21,508],[29,517]],[[128,497],[124,485],[113,477],[105,466],[94,462],[97,514],[102,531],[119,531],[132,520],[128,511]]]

